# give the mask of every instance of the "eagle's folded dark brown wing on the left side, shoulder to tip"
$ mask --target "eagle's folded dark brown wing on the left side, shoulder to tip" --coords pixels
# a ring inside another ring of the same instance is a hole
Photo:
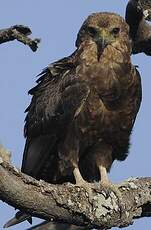
[[[22,171],[42,179],[47,162],[56,163],[56,143],[64,138],[68,125],[80,113],[89,87],[75,74],[75,67],[62,59],[46,68],[29,91],[33,96],[26,109]],[[49,168],[51,166],[49,165]]]

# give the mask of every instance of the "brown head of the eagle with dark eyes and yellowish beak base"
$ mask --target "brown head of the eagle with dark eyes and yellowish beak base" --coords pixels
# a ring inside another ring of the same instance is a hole
[[[95,43],[99,53],[108,45],[122,51],[123,45],[130,46],[129,28],[125,20],[117,14],[94,13],[83,23],[76,46],[79,47],[85,41]]]

